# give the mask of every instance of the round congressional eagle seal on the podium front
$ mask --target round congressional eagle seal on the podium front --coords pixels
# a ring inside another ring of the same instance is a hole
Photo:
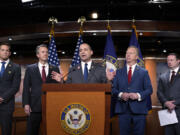
[[[71,135],[80,135],[88,130],[91,115],[87,107],[79,103],[67,105],[60,116],[61,126]]]

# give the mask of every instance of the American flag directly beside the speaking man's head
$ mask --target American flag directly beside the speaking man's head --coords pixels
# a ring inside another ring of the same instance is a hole
[[[80,47],[80,45],[82,43],[83,43],[82,35],[80,34],[79,38],[78,38],[77,45],[76,45],[76,49],[75,49],[75,52],[74,52],[74,56],[73,56],[71,67],[73,67],[73,66],[75,66],[75,65],[77,65],[77,64],[79,64],[81,62],[80,56],[79,56],[79,47]]]

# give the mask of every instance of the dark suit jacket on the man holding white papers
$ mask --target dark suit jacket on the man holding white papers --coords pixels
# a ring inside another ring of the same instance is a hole
[[[166,101],[175,100],[176,114],[180,116],[180,68],[172,83],[169,78],[170,71],[160,76],[157,96],[163,107]]]

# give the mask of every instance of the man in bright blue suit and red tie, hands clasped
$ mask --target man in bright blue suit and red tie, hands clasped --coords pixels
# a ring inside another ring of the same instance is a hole
[[[148,71],[137,65],[138,49],[128,47],[126,65],[117,70],[112,95],[117,99],[115,113],[119,114],[120,135],[144,135],[147,97],[152,94]]]

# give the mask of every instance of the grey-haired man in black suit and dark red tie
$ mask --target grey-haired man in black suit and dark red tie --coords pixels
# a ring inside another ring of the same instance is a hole
[[[59,72],[58,67],[47,63],[48,48],[42,44],[36,48],[38,63],[29,65],[25,72],[23,88],[23,106],[29,116],[27,121],[27,135],[38,135],[42,120],[41,87],[43,83],[56,83],[51,78],[51,72]]]

